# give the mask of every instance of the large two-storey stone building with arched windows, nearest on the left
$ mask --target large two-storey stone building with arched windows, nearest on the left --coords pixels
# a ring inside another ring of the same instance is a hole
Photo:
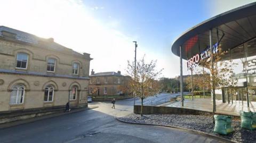
[[[0,26],[0,112],[87,106],[90,54]]]

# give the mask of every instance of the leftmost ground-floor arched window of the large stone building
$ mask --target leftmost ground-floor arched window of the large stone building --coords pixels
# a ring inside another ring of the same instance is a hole
[[[24,102],[25,86],[15,85],[12,87],[10,104],[21,104]]]

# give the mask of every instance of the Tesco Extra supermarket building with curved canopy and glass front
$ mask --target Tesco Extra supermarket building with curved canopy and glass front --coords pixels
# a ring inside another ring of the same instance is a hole
[[[256,101],[256,2],[221,13],[184,32],[172,45],[173,54],[193,66],[211,53],[218,52],[218,46],[225,52],[222,60],[237,63],[232,75],[237,83],[233,87],[215,90],[216,98],[223,103],[229,100],[243,100],[245,105]],[[181,96],[183,84],[181,82]],[[230,92],[230,89],[234,89]],[[244,105],[244,106],[245,106]]]

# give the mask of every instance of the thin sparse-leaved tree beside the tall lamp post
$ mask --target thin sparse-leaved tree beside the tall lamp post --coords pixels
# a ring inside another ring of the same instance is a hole
[[[132,92],[135,97],[139,97],[141,99],[141,116],[143,111],[143,99],[159,92],[160,86],[158,85],[156,78],[161,74],[163,70],[161,69],[157,71],[157,61],[152,60],[147,64],[144,57],[145,56],[143,56],[142,60],[137,62],[136,70],[134,67],[134,62],[131,63],[128,61],[127,67],[127,73],[130,75],[130,77],[132,77],[128,83],[127,90],[130,90],[130,92]],[[135,79],[134,71],[136,71]]]

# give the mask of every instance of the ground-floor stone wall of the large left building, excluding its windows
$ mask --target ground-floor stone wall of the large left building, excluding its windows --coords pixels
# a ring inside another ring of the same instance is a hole
[[[3,85],[0,86],[0,111],[66,105],[69,98],[69,90],[71,90],[72,86],[78,87],[78,94],[76,100],[70,100],[70,105],[87,106],[89,80],[3,73],[0,73],[0,77],[4,81]],[[23,104],[10,105],[11,87],[17,84],[25,85],[24,102]],[[44,88],[47,85],[54,87],[53,102],[44,102]]]

